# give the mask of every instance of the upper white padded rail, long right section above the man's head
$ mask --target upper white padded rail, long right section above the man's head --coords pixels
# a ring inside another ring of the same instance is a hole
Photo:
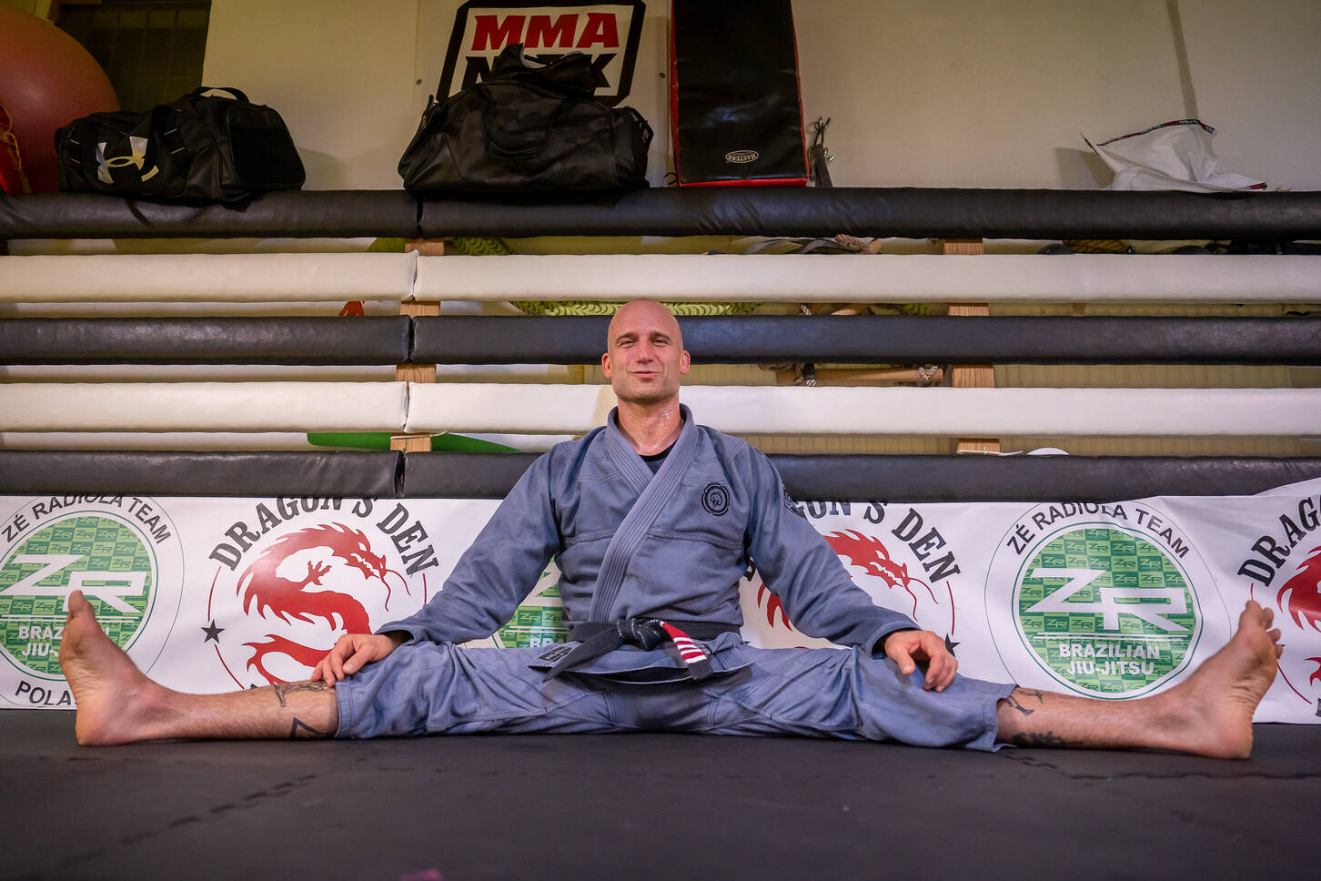
[[[1321,302],[1300,255],[610,254],[417,259],[417,300]]]

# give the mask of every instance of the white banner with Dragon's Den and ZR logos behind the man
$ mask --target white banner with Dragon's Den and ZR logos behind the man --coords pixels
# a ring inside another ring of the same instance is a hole
[[[1254,598],[1284,656],[1258,721],[1321,713],[1321,479],[1255,497],[1107,505],[808,502],[884,606],[945,637],[960,671],[1107,700],[1180,682]],[[493,501],[0,497],[0,707],[71,707],[58,664],[82,590],[148,675],[190,692],[306,678],[343,631],[435,596]],[[517,540],[517,536],[511,536]],[[482,645],[564,638],[551,565]],[[742,585],[758,646],[799,634],[774,585]]]

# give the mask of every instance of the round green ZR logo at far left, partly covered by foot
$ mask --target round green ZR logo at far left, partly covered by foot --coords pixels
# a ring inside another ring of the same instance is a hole
[[[137,531],[79,514],[12,548],[0,565],[0,649],[26,672],[59,678],[65,597],[82,590],[106,633],[127,649],[152,604],[155,559]]]

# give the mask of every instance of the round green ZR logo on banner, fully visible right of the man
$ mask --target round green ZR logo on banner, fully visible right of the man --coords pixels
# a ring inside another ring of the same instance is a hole
[[[1020,569],[1015,612],[1041,666],[1074,691],[1129,697],[1189,659],[1197,598],[1174,557],[1110,526],[1073,527]]]

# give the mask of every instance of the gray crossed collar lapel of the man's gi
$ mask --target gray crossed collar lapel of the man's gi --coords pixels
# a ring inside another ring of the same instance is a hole
[[[596,593],[592,597],[592,610],[588,614],[590,621],[609,621],[606,616],[614,606],[620,596],[620,586],[629,569],[633,555],[638,552],[647,530],[655,523],[660,511],[674,497],[683,476],[692,464],[692,457],[697,450],[697,427],[692,421],[692,413],[687,407],[679,404],[683,415],[683,431],[679,440],[670,448],[670,454],[660,464],[660,470],[655,474],[646,466],[642,457],[633,449],[620,432],[618,409],[610,411],[610,417],[605,428],[605,449],[610,461],[624,474],[624,479],[634,490],[639,490],[637,501],[629,510],[627,516],[620,523],[614,538],[610,539],[605,556],[601,560],[601,573],[596,580]]]

